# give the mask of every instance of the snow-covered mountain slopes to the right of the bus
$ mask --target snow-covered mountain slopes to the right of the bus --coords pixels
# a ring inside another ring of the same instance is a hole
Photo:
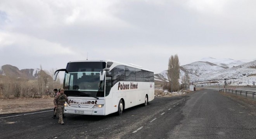
[[[223,84],[227,78],[230,85],[253,85],[253,81],[256,81],[256,60],[203,58],[180,66],[180,78],[185,73],[194,84]],[[167,70],[154,77],[157,81],[168,81]]]

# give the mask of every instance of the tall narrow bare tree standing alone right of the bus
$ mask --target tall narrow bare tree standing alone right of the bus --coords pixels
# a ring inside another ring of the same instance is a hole
[[[171,88],[171,90],[169,91],[178,91],[180,88],[180,83],[178,81],[180,78],[180,62],[177,54],[175,54],[174,56],[171,55],[171,57],[169,58],[167,75]]]

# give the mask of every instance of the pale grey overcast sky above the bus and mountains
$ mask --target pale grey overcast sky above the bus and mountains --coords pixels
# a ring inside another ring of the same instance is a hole
[[[1,0],[0,66],[112,59],[155,73],[205,57],[256,59],[255,0]]]

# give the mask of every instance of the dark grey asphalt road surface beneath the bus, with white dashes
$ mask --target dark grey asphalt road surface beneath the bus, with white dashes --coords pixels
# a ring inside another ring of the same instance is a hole
[[[216,90],[156,97],[146,107],[129,108],[121,116],[66,114],[65,125],[52,119],[52,113],[0,115],[0,139],[256,138],[256,114]]]

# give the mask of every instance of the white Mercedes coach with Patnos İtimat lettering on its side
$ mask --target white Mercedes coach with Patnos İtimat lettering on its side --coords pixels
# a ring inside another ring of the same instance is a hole
[[[112,60],[71,61],[65,71],[63,88],[70,102],[64,113],[108,115],[154,99],[154,73],[134,64]]]

